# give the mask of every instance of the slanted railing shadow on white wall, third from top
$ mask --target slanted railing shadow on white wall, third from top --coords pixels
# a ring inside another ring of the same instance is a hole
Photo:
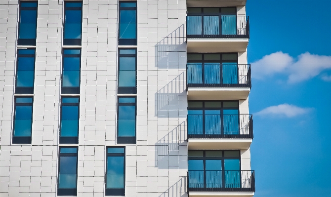
[[[155,166],[161,169],[171,167],[187,169],[187,155],[180,156],[179,153],[179,146],[187,147],[185,130],[183,121],[155,144],[155,158],[157,158]]]

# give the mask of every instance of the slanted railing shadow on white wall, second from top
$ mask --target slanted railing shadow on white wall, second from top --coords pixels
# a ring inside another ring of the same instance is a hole
[[[185,73],[182,72],[155,93],[155,102],[158,104],[155,108],[155,116],[158,118],[179,118],[180,96],[187,95],[185,78]]]

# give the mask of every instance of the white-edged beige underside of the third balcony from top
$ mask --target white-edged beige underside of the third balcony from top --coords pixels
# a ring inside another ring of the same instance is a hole
[[[248,149],[252,139],[188,139],[189,150]]]

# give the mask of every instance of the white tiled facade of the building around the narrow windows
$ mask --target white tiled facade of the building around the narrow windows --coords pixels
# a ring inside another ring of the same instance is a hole
[[[17,145],[19,1],[0,0],[0,197],[57,196],[63,3],[38,1],[32,144]],[[187,197],[187,2],[137,3],[137,141],[125,145],[125,197]],[[83,0],[78,197],[104,197],[106,146],[118,146],[118,4]],[[238,52],[247,64],[247,52]],[[248,114],[248,99],[240,110]],[[250,170],[249,149],[241,153],[242,170]]]

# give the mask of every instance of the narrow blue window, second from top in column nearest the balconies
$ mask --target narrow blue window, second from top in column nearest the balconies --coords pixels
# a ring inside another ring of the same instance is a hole
[[[136,49],[120,49],[119,54],[119,94],[136,94]]]

